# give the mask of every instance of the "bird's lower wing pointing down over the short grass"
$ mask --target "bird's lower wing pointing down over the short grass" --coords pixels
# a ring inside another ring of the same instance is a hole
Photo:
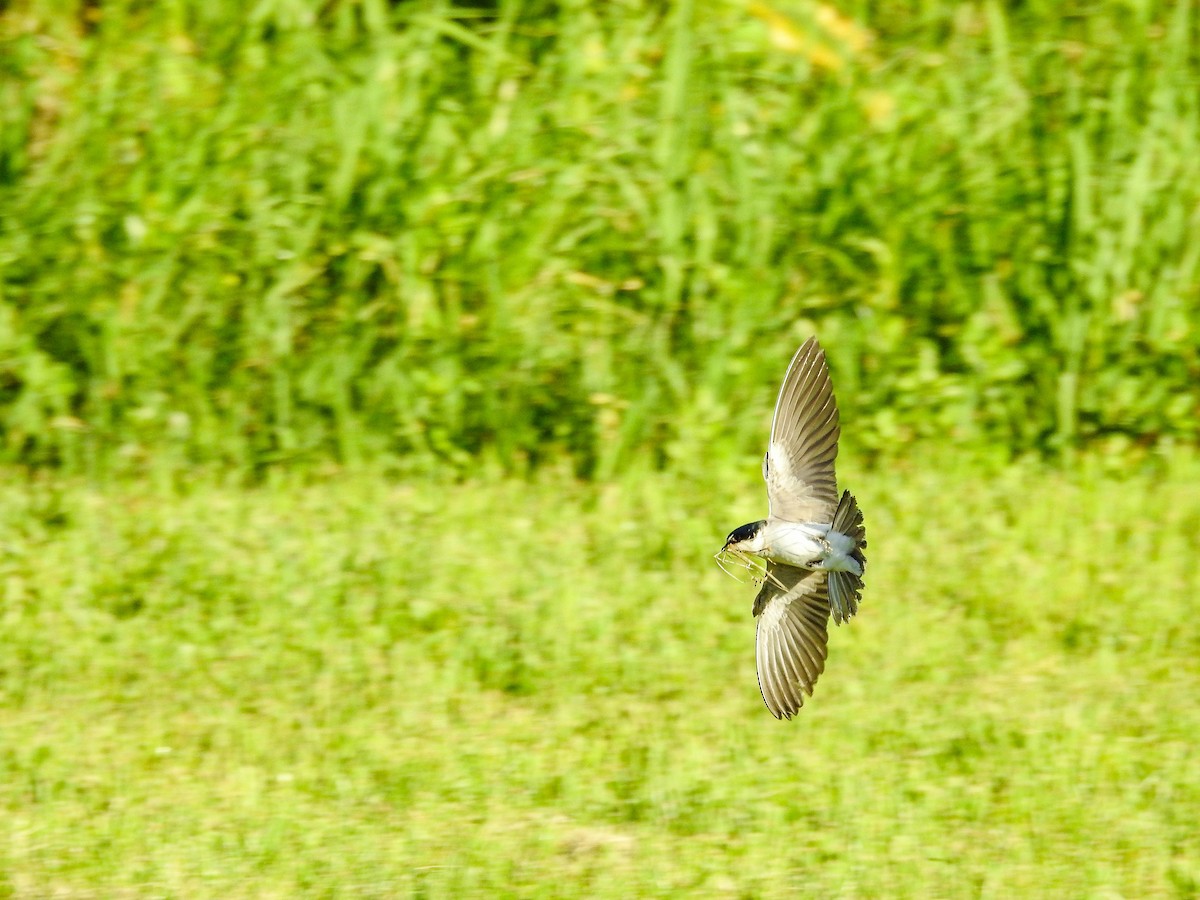
[[[767,563],[762,589],[754,601],[758,617],[758,690],[767,709],[791,719],[804,706],[804,694],[824,672],[829,638],[829,594],[822,569]]]

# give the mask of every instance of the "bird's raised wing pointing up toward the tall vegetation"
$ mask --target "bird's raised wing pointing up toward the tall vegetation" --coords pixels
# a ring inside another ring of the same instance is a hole
[[[838,402],[817,338],[796,352],[784,376],[762,461],[770,515],[788,522],[829,522],[838,508]]]

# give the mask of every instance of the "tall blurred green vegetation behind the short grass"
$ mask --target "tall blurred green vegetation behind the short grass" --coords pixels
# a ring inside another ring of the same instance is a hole
[[[1200,433],[1190,2],[0,8],[7,461]]]

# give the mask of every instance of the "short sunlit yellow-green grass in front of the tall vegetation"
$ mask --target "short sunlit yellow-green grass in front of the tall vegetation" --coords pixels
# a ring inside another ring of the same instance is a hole
[[[710,558],[752,458],[11,473],[0,896],[1194,896],[1200,461],[911,458],[844,466],[865,602],[791,722]]]

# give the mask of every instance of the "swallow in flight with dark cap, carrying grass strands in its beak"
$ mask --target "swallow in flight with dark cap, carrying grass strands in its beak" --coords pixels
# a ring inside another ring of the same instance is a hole
[[[775,402],[762,461],[767,518],[734,528],[718,553],[746,568],[755,557],[764,562],[754,601],[758,689],[776,719],[791,719],[803,695],[812,696],[824,671],[829,616],[840,625],[863,596],[866,529],[850,491],[838,496],[840,433],[824,350],[810,337]]]

